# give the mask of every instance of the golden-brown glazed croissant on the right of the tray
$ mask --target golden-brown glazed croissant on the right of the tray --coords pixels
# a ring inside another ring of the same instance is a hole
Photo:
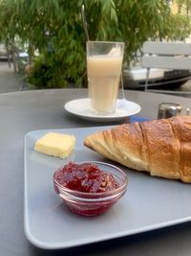
[[[191,183],[191,116],[119,125],[84,146],[130,169]]]

